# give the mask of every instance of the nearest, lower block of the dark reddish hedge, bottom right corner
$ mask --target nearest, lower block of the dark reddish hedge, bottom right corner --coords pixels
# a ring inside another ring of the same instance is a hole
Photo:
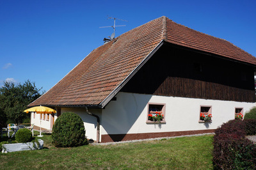
[[[214,169],[255,169],[256,146],[248,139],[232,135],[214,137],[213,164]]]

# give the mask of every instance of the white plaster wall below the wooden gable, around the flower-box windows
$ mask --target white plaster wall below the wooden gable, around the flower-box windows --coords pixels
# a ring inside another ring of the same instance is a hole
[[[166,104],[166,123],[146,123],[147,104]],[[212,123],[198,123],[200,105],[212,106]],[[102,134],[136,134],[215,129],[234,119],[235,107],[249,111],[255,103],[163,97],[134,93],[118,93],[102,110]]]

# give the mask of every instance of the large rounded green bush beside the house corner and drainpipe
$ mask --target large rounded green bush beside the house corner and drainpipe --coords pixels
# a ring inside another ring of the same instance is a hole
[[[52,127],[52,144],[73,147],[86,144],[83,120],[74,112],[64,112]]]

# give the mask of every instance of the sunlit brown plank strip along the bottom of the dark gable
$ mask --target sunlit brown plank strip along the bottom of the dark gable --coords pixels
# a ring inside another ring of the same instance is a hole
[[[183,77],[167,77],[153,95],[232,100],[238,102],[255,101],[254,90],[235,88],[216,82],[205,82]]]

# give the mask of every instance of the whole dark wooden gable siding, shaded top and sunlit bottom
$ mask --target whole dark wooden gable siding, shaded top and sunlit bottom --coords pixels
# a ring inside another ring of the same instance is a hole
[[[255,102],[253,75],[252,66],[163,45],[121,91]]]

